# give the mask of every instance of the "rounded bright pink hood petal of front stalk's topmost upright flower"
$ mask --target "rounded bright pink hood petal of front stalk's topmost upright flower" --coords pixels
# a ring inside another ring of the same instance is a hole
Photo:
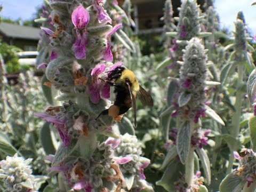
[[[85,29],[90,20],[90,15],[82,5],[78,6],[71,15],[74,26],[79,29]]]

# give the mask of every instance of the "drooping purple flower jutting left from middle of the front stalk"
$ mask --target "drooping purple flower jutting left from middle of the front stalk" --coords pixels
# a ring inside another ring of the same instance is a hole
[[[68,133],[68,129],[65,125],[64,119],[58,119],[57,116],[48,115],[46,113],[38,113],[37,117],[44,118],[46,122],[53,123],[55,129],[59,132],[60,138],[64,143],[64,146],[67,147],[71,143],[71,135]]]

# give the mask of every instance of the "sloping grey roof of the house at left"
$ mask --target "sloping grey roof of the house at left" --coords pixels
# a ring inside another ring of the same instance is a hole
[[[12,23],[0,23],[0,33],[6,37],[22,38],[22,39],[40,39],[41,29],[30,26],[14,25]]]

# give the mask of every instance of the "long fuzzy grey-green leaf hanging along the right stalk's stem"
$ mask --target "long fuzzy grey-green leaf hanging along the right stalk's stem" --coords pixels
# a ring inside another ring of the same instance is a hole
[[[181,125],[177,135],[177,150],[182,164],[185,164],[188,157],[191,129],[193,128],[190,122],[186,121]]]

